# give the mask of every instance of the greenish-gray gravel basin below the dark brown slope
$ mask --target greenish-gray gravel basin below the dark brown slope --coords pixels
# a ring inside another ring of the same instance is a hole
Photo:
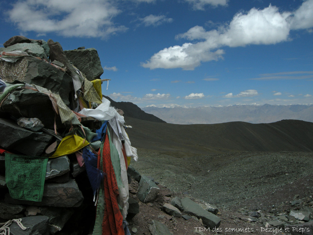
[[[308,152],[234,152],[176,158],[139,149],[138,156],[138,161],[131,164],[141,174],[151,175],[174,192],[224,209],[273,207],[274,204],[269,205],[273,201],[269,203],[264,195],[287,190],[299,180],[310,180],[313,169],[313,153]],[[284,203],[288,196],[293,198],[293,193],[309,196],[306,194],[312,194],[312,186],[277,196],[275,205]]]

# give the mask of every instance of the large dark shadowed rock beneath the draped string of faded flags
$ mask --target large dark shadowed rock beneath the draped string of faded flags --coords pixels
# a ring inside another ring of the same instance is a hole
[[[2,103],[0,113],[10,114],[15,118],[38,118],[45,128],[54,129],[55,112],[52,103],[47,95],[38,91],[24,89],[11,92]],[[57,128],[64,127],[59,116],[56,124]]]

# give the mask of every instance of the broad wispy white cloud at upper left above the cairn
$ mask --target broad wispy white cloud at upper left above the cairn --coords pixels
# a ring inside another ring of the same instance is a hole
[[[115,4],[107,0],[24,0],[14,3],[8,16],[22,32],[107,38],[127,30],[112,22],[112,18],[120,13]]]

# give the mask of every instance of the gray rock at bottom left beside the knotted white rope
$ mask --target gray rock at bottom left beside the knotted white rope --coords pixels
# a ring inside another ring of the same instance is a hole
[[[27,229],[22,230],[14,222],[10,225],[10,235],[49,235],[48,219],[46,216],[23,217],[22,224]]]

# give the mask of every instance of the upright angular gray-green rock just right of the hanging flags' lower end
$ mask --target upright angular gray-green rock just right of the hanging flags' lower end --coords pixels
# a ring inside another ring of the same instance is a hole
[[[140,201],[148,202],[154,200],[160,191],[160,188],[147,176],[142,175],[139,182],[137,196]]]

